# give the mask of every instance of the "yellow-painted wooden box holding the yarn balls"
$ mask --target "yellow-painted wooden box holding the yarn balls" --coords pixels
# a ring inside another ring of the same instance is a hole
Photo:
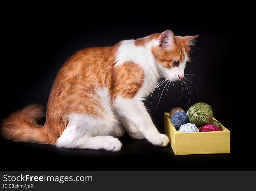
[[[222,131],[182,133],[171,123],[169,113],[164,113],[164,132],[175,155],[230,153],[230,131],[220,125]]]

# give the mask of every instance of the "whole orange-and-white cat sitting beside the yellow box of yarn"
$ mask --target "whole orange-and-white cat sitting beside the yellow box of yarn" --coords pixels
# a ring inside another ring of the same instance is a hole
[[[161,77],[184,77],[190,45],[196,36],[174,36],[168,30],[112,47],[77,51],[58,72],[47,103],[33,104],[3,120],[1,133],[13,141],[54,144],[57,147],[119,151],[117,137],[147,139],[165,147],[143,100]]]

